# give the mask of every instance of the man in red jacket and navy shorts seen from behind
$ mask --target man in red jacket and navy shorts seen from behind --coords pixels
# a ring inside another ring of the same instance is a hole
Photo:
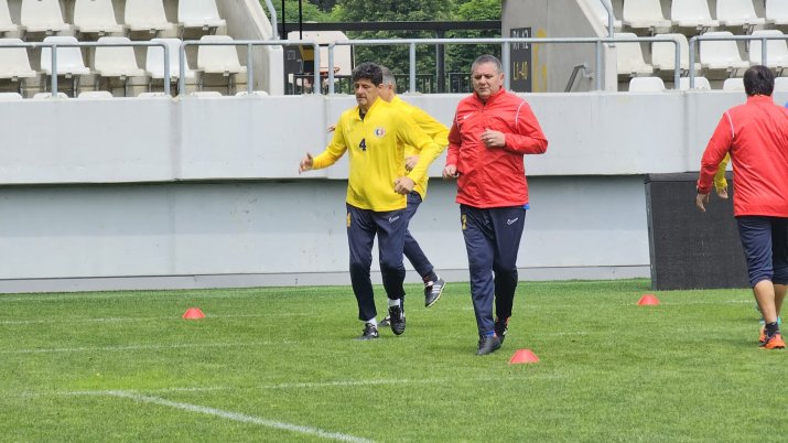
[[[777,317],[788,288],[788,110],[771,99],[774,86],[765,66],[744,73],[747,102],[725,111],[709,140],[695,205],[705,212],[714,174],[730,152],[736,188],[733,215],[765,322],[760,346],[781,349]]]

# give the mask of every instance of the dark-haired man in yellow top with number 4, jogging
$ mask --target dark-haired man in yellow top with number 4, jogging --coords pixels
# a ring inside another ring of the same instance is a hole
[[[378,238],[380,273],[389,299],[391,331],[404,332],[404,267],[402,253],[408,229],[407,195],[438,158],[435,144],[408,116],[379,100],[380,66],[363,63],[353,69],[353,87],[358,106],[343,112],[334,137],[316,156],[306,153],[299,173],[334,164],[349,152],[347,181],[347,241],[350,282],[358,302],[358,320],[364,322],[360,339],[378,337],[377,310],[369,269],[373,242]],[[418,163],[406,173],[404,147],[420,152]]]

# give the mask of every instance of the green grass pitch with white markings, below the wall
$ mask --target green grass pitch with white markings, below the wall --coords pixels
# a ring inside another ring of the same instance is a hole
[[[467,283],[431,309],[409,285],[407,332],[374,342],[349,288],[0,295],[0,441],[785,439],[788,354],[757,347],[749,291],[648,288],[521,282],[485,357]]]

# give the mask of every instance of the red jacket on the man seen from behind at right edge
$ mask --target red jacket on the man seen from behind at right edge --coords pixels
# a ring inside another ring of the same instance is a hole
[[[725,111],[701,160],[698,192],[711,191],[717,165],[731,152],[733,214],[788,217],[788,110],[771,97],[747,97]]]

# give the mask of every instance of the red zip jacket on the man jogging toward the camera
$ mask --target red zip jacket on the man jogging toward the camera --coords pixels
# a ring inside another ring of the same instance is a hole
[[[487,148],[485,129],[500,131],[505,148]],[[446,164],[457,168],[456,202],[488,208],[528,203],[523,154],[541,154],[548,141],[522,98],[500,89],[483,102],[476,94],[460,101],[449,132]]]

